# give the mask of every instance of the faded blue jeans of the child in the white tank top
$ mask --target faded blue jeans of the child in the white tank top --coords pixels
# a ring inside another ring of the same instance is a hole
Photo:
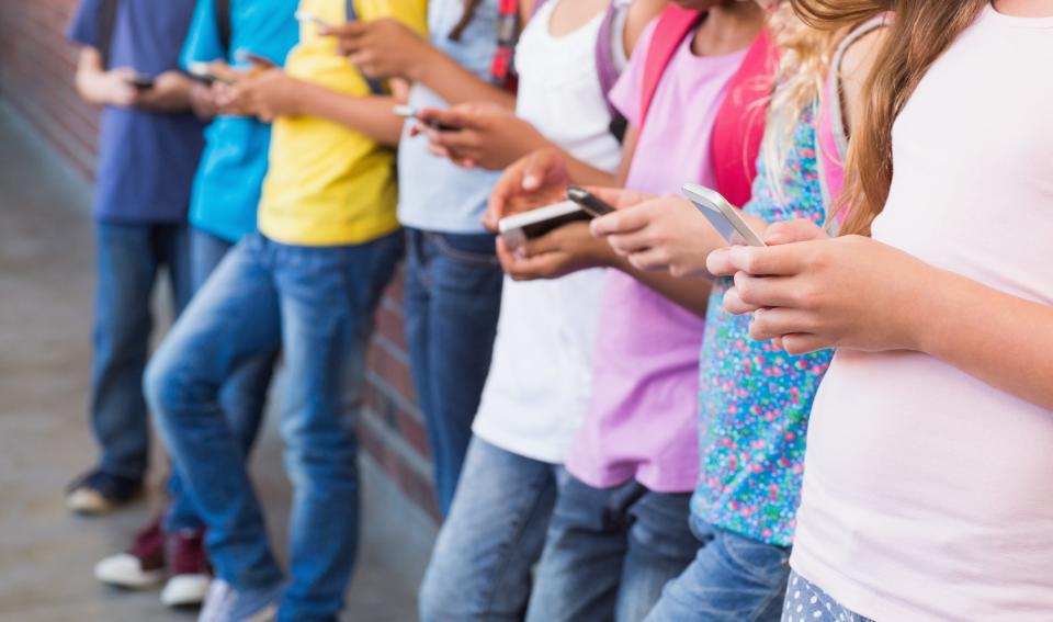
[[[559,466],[472,439],[420,587],[422,622],[518,622],[556,500]]]

